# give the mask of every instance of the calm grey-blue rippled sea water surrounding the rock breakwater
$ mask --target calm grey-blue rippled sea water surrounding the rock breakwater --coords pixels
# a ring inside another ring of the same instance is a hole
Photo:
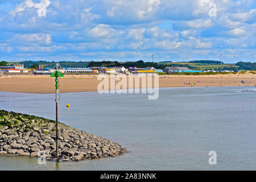
[[[162,88],[158,100],[146,94],[64,93],[60,122],[113,140],[127,153],[57,167],[0,156],[0,170],[255,170],[255,94],[254,87]],[[55,119],[54,99],[54,94],[0,92],[0,109]],[[210,166],[212,150],[217,165]]]

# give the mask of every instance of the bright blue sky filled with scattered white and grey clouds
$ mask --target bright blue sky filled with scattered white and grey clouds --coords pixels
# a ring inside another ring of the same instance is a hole
[[[0,0],[0,60],[256,60],[255,0]]]

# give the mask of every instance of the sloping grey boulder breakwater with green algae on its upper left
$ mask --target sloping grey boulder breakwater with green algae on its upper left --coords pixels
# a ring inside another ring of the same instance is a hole
[[[59,159],[79,161],[123,154],[119,144],[59,123]],[[41,152],[41,154],[40,154]],[[0,154],[56,158],[55,121],[0,110]]]

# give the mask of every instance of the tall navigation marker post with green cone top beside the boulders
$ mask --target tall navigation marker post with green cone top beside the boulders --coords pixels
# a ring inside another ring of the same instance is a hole
[[[62,73],[58,71],[59,64],[56,65],[56,71],[52,73],[50,77],[55,77],[56,82],[56,161],[59,162],[59,153],[58,153],[58,138],[59,138],[59,130],[58,130],[58,105],[60,102],[60,89],[59,89],[59,77],[63,77]]]

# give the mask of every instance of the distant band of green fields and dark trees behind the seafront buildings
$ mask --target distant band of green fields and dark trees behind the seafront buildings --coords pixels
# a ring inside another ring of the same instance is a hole
[[[5,61],[2,61],[4,64]],[[146,67],[154,67],[157,69],[164,69],[167,66],[173,67],[187,67],[189,69],[195,70],[247,70],[247,71],[255,71],[256,63],[251,62],[243,62],[240,61],[234,64],[223,64],[221,61],[214,60],[195,60],[188,62],[172,62],[172,61],[161,61],[159,63],[152,62],[144,62],[143,60],[139,61],[20,61],[20,62],[7,62],[7,65],[13,66],[14,64],[24,64],[24,68],[31,68],[33,64],[41,64],[44,65],[44,68],[49,67],[53,68],[56,63],[59,63],[61,67],[64,68],[86,68],[86,67],[121,67],[122,65],[125,68],[129,67],[137,67],[137,68],[146,68]],[[221,64],[222,63],[222,64]]]

